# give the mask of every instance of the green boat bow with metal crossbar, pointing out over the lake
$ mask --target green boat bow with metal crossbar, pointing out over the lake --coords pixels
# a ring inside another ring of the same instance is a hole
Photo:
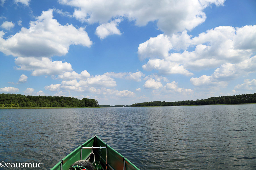
[[[90,160],[88,160],[89,158]],[[91,139],[68,154],[57,165],[51,168],[51,170],[69,170],[70,166],[77,166],[74,163],[79,162],[79,160],[92,162],[95,169],[98,167],[98,170],[139,170],[139,168],[108,146],[97,135],[94,135]],[[95,166],[95,163],[98,163],[98,165],[96,164],[97,166]],[[76,169],[79,169],[79,167]]]

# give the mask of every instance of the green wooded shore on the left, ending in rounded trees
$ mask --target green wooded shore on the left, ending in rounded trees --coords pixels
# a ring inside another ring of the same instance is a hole
[[[63,96],[0,94],[0,107],[99,107],[95,99]]]

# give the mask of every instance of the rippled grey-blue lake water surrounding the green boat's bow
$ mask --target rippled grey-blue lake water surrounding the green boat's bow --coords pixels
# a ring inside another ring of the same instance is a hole
[[[256,105],[0,110],[0,162],[51,169],[95,134],[141,170],[256,169]]]

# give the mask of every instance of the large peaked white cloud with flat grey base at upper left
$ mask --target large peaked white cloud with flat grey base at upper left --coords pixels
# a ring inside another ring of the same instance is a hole
[[[36,21],[30,21],[29,29],[21,30],[8,39],[0,31],[0,51],[15,57],[51,57],[68,53],[72,44],[90,47],[92,41],[83,27],[61,25],[53,19],[53,10],[43,11]]]

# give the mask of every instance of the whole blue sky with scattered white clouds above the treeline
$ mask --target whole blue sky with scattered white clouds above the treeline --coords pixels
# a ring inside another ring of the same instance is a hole
[[[256,92],[256,1],[0,0],[0,92],[101,105]]]

